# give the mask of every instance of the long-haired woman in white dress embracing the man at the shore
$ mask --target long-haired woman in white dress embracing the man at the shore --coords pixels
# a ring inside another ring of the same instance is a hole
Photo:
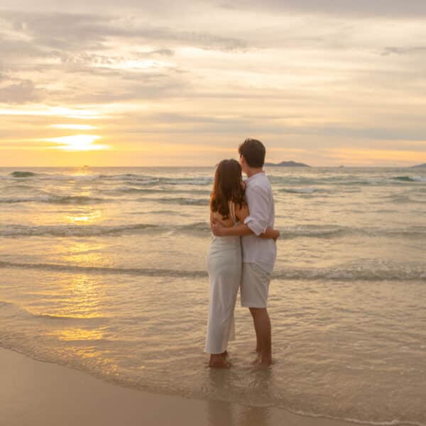
[[[236,160],[222,160],[214,175],[210,197],[210,221],[234,226],[244,222],[249,209],[244,197],[241,165]],[[261,238],[277,239],[279,231],[268,228]],[[213,236],[207,254],[210,281],[209,319],[204,351],[210,354],[209,366],[229,367],[226,347],[235,339],[234,307],[242,270],[239,236]]]

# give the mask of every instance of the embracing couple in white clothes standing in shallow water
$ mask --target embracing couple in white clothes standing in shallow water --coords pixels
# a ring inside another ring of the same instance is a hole
[[[271,321],[266,302],[276,256],[271,184],[263,172],[265,146],[246,139],[239,162],[223,160],[214,175],[210,198],[212,244],[207,255],[209,317],[204,351],[209,366],[229,367],[226,347],[235,338],[234,307],[241,288],[241,306],[249,307],[256,331],[256,362],[271,365]],[[241,171],[247,175],[242,180]]]

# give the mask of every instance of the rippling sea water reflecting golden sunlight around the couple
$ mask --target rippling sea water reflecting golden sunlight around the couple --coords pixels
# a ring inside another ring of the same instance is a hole
[[[155,393],[426,425],[426,169],[266,168],[274,364],[203,353],[214,168],[0,168],[0,346]]]

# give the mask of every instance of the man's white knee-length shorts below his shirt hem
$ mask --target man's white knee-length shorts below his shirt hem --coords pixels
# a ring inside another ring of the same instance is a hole
[[[241,306],[266,307],[271,274],[256,263],[243,263]]]

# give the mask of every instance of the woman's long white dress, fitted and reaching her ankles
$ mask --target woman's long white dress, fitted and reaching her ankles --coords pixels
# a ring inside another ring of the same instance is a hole
[[[235,226],[233,203],[229,203],[229,212]],[[212,236],[207,254],[207,271],[210,301],[204,351],[207,354],[222,354],[226,351],[228,341],[235,339],[234,308],[242,271],[239,236]]]

